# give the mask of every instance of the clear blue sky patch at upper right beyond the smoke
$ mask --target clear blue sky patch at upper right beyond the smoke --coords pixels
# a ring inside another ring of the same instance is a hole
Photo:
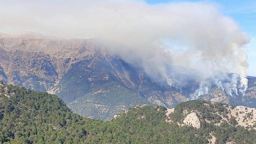
[[[154,5],[168,2],[186,2],[197,0],[145,0]],[[220,6],[224,15],[232,17],[241,29],[251,38],[248,44],[247,54],[249,69],[248,74],[256,76],[256,1],[255,0],[205,0],[204,2],[215,3]]]

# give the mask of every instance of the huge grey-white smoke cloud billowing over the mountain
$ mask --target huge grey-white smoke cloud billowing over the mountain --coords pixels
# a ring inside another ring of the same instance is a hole
[[[109,51],[143,68],[155,81],[182,86],[186,79],[177,78],[180,74],[194,76],[200,83],[194,98],[213,85],[230,95],[247,89],[244,48],[250,38],[215,3],[11,0],[1,2],[0,12],[2,32],[116,41],[124,47],[109,45]]]

